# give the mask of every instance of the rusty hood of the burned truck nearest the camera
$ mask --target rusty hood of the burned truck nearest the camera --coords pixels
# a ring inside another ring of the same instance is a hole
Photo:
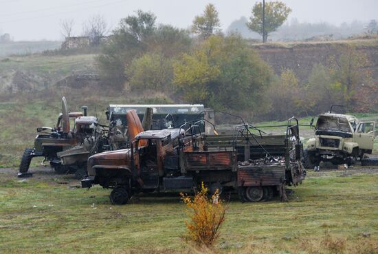
[[[106,151],[88,158],[88,176],[96,176],[96,169],[129,169],[131,149]]]

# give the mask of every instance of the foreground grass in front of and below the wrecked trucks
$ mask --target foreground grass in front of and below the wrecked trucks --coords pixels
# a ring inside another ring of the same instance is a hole
[[[186,215],[178,194],[113,206],[109,190],[87,191],[49,169],[33,171],[20,180],[15,170],[0,170],[2,254],[201,253],[181,239]],[[289,202],[232,198],[211,252],[377,253],[377,184],[378,169],[355,167],[309,172]]]

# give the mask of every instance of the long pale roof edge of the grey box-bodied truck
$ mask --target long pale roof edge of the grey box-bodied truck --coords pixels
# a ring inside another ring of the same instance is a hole
[[[126,114],[135,110],[137,114],[144,114],[147,107],[153,108],[153,114],[199,114],[205,111],[203,104],[151,104],[151,105],[109,105],[109,112],[113,114]]]

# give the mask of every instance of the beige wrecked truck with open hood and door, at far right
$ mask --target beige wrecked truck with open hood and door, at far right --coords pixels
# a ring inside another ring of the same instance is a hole
[[[333,106],[329,113],[318,116],[315,137],[308,140],[304,149],[304,166],[315,171],[319,171],[320,162],[351,165],[373,151],[375,122],[360,122],[355,116],[335,114]]]

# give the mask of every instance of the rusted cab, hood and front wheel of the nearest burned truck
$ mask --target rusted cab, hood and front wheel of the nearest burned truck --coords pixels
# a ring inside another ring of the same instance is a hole
[[[135,192],[166,189],[166,176],[181,176],[177,148],[182,137],[182,129],[142,131],[129,149],[89,157],[88,178],[82,180],[82,187],[100,184],[113,189],[111,201],[114,204],[126,203]],[[187,185],[191,188],[192,180]]]

